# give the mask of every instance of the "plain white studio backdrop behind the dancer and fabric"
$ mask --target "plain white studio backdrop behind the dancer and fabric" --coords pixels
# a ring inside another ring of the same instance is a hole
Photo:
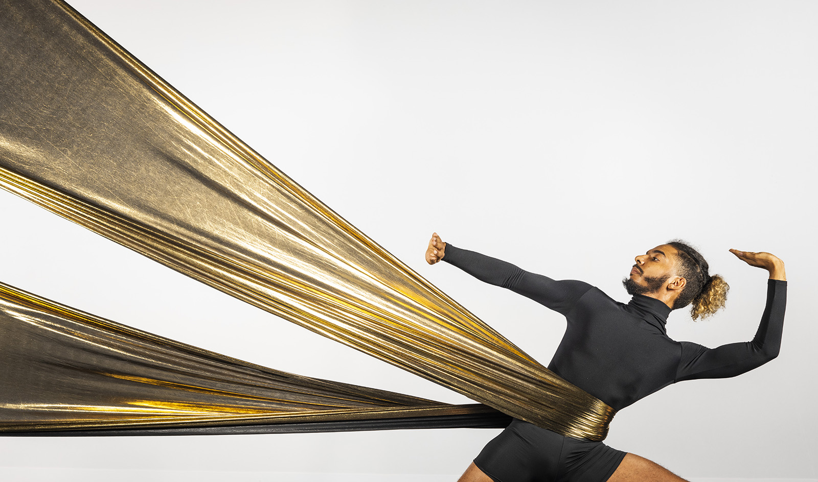
[[[71,3],[543,364],[560,316],[425,265],[433,230],[623,301],[632,257],[687,239],[728,280],[730,299],[697,324],[674,312],[668,332],[707,346],[752,338],[764,305],[765,274],[727,249],[774,252],[790,283],[780,357],[651,395],[618,413],[607,441],[691,478],[818,478],[807,291],[818,272],[818,3]],[[5,191],[0,207],[6,283],[272,368],[467,401]],[[123,469],[156,480],[455,480],[497,432],[0,438],[0,477],[29,467],[83,480],[123,480]]]

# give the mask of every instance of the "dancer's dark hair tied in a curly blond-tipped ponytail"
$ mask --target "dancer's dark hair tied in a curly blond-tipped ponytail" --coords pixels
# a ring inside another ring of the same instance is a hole
[[[719,274],[711,276],[708,273],[708,261],[690,244],[681,239],[673,239],[668,245],[676,248],[678,259],[676,270],[678,275],[685,279],[685,288],[673,302],[673,310],[683,308],[693,303],[690,316],[696,319],[705,319],[724,308],[727,301],[727,291],[730,285]]]

